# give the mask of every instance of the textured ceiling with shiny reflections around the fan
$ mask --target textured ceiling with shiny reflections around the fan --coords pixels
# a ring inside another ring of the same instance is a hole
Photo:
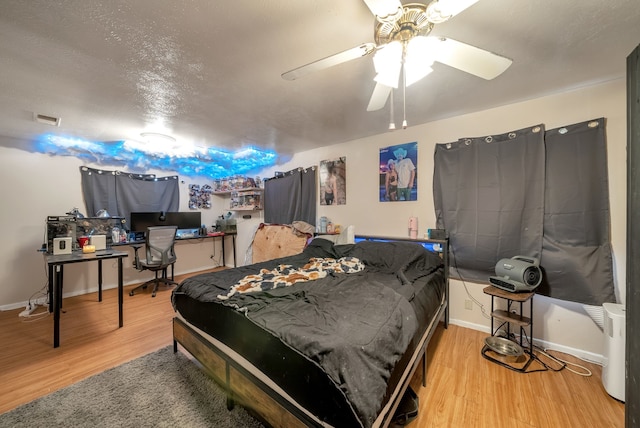
[[[513,65],[485,81],[436,64],[407,90],[409,125],[623,77],[638,22],[637,0],[480,0],[432,34]],[[389,109],[366,111],[371,56],[280,77],[372,42],[373,26],[360,0],[2,0],[0,134],[115,141],[161,131],[285,155],[380,134]]]

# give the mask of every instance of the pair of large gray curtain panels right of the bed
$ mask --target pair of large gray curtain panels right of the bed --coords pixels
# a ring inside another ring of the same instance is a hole
[[[451,237],[452,274],[487,282],[501,258],[537,257],[537,293],[615,302],[604,128],[601,118],[438,144],[436,225]]]

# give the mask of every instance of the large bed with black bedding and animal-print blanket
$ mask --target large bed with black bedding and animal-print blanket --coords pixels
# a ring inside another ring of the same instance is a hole
[[[184,280],[180,344],[228,407],[270,426],[388,426],[436,326],[448,324],[446,240],[316,238],[299,254]]]

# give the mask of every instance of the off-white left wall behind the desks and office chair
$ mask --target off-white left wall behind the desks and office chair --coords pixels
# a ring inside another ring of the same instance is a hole
[[[0,137],[0,309],[24,306],[26,301],[47,284],[47,269],[41,252],[46,236],[46,218],[64,215],[73,207],[86,212],[82,198],[79,167],[88,165],[106,170],[121,169],[86,164],[73,157],[49,156],[29,153],[6,146],[14,142]],[[173,175],[166,171],[148,171],[158,176]],[[180,177],[180,210],[188,211],[189,184],[212,184],[210,180]],[[228,199],[212,195],[212,208],[203,209],[202,222],[207,227],[215,224],[217,216],[228,212]],[[241,241],[242,236],[239,236]],[[227,239],[226,265],[233,266],[231,240]],[[133,268],[133,250],[124,259],[124,282],[138,283],[151,279],[149,271]],[[178,261],[176,273],[195,272],[222,264],[221,240],[216,238],[190,240],[176,244]],[[244,260],[243,254],[238,254]],[[104,263],[103,287],[117,286],[117,262]],[[64,295],[78,295],[97,290],[97,264],[67,265],[64,277]]]

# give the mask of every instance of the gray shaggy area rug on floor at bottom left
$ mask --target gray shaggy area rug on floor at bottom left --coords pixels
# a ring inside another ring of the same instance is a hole
[[[262,427],[168,346],[0,415],[0,427]]]

